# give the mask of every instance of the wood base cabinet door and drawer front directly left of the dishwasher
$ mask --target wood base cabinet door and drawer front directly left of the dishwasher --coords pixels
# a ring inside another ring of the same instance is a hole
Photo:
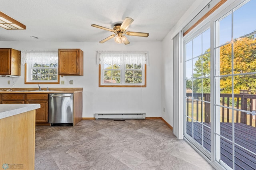
[[[36,109],[36,122],[48,123],[48,100],[27,100],[27,104],[40,104]]]

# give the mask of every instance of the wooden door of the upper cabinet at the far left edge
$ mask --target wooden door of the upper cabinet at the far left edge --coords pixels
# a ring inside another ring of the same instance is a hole
[[[11,49],[0,49],[0,75],[11,74]]]

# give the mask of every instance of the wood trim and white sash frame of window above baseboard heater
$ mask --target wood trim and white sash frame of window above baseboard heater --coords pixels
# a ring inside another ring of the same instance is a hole
[[[125,79],[125,64],[121,64],[121,79]],[[147,71],[147,65],[144,64],[144,67],[142,66],[142,81],[144,82],[143,85],[133,85],[133,83],[124,83],[117,85],[116,83],[102,83],[104,76],[103,74],[103,67],[101,64],[99,64],[99,87],[146,87],[146,71]],[[144,71],[143,71],[144,70]],[[124,80],[125,81],[125,80]],[[126,84],[126,85],[125,85]],[[127,85],[131,84],[131,85]]]

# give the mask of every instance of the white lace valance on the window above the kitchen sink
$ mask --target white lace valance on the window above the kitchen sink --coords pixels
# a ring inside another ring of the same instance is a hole
[[[58,63],[58,52],[21,51],[21,63],[24,65],[34,63]]]

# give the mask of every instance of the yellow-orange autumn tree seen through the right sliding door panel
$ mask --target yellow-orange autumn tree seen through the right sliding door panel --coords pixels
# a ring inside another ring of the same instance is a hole
[[[256,93],[256,37],[249,36],[238,39],[233,43],[233,74],[234,93],[240,89]],[[232,75],[232,44],[220,48],[220,75]],[[232,77],[220,79],[222,93],[232,93]]]

